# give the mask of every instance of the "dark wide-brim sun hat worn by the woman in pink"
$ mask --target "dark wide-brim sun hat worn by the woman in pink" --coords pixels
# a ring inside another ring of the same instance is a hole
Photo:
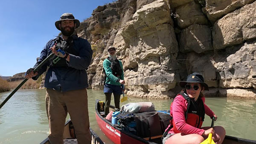
[[[205,88],[205,90],[209,90],[209,87],[205,83],[205,80],[204,80],[203,76],[199,73],[196,73],[196,72],[188,75],[186,81],[180,81],[179,86],[181,86],[182,88],[185,88],[185,85],[187,83],[200,83]]]

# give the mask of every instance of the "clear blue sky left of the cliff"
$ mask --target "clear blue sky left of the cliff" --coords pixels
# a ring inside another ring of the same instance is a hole
[[[0,1],[0,76],[13,76],[34,66],[48,40],[59,34],[55,21],[72,13],[80,22],[98,6],[113,0]]]

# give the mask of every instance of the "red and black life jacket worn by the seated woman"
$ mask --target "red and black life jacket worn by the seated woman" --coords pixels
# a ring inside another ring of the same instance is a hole
[[[180,94],[187,101],[187,111],[185,112],[186,123],[200,129],[205,119],[205,107],[202,99],[198,97],[197,101],[194,101],[193,98],[191,99],[184,92]],[[181,133],[175,126],[173,120],[171,120],[171,125],[173,125],[173,131],[175,133]]]

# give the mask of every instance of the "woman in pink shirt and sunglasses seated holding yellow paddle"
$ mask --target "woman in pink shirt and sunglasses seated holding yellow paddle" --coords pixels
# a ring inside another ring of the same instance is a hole
[[[187,76],[187,81],[180,81],[182,90],[173,100],[170,106],[170,114],[173,117],[171,124],[163,135],[163,144],[198,144],[203,142],[210,133],[213,140],[221,144],[226,131],[221,126],[201,127],[205,114],[217,120],[217,116],[205,104],[204,90],[209,90],[204,83],[203,76],[192,73]]]

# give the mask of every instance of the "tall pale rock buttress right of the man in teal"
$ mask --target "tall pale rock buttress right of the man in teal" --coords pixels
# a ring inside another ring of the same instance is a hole
[[[126,36],[131,31],[130,39]],[[158,0],[143,5],[133,15],[133,21],[123,27],[122,35],[132,58],[125,72],[128,94],[167,97],[166,92],[176,85],[172,62],[178,53],[169,3]]]

